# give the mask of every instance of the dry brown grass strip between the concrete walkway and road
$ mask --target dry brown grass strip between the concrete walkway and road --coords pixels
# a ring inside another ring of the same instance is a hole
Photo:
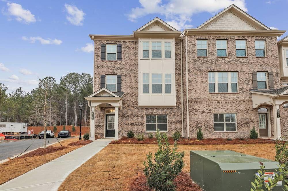
[[[78,138],[72,138],[61,141],[60,143],[62,144],[62,146],[67,147],[69,143],[78,140],[79,140]],[[60,144],[56,143],[52,146],[60,147]],[[0,185],[82,146],[83,145],[69,146],[65,149],[48,153],[45,155],[15,158],[12,161],[2,163],[0,164],[1,169]]]

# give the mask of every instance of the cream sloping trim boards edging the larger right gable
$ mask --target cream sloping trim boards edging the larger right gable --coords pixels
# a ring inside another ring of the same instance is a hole
[[[247,14],[245,11],[237,7],[236,5],[232,4],[220,13],[216,14],[214,17],[209,19],[208,21],[204,22],[202,25],[198,26],[197,29],[204,29],[206,26],[210,25],[214,21],[218,20],[222,15],[226,14],[228,11],[231,11],[233,14],[238,16],[243,21],[247,22],[257,30],[271,30],[269,27],[265,26],[249,14]]]

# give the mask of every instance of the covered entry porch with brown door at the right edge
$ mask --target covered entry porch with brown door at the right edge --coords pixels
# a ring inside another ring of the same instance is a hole
[[[280,116],[280,106],[288,103],[288,86],[270,90],[251,89],[250,92],[252,93],[253,108],[257,108],[259,113],[259,132],[266,130],[268,137],[272,137],[270,122],[270,108],[272,108],[271,114],[274,125],[272,138],[281,138],[281,117],[287,116]],[[265,113],[268,115],[265,116]]]

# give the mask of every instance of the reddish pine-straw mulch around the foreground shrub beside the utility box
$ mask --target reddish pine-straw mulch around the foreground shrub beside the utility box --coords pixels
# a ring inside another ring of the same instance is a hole
[[[186,191],[202,191],[202,188],[192,182],[190,176],[184,172],[181,172],[173,181],[176,186],[176,190]],[[144,174],[140,174],[136,178],[130,181],[130,191],[152,191],[147,186],[147,179]]]

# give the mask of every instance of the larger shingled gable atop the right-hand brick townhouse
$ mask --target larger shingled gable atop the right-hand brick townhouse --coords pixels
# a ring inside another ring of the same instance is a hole
[[[208,21],[204,22],[202,25],[198,26],[197,29],[215,29],[211,28],[211,24],[213,24],[214,22],[219,22],[219,19],[225,15],[230,19],[239,22],[239,25],[243,27],[242,30],[271,30],[269,27],[265,26],[264,24],[262,24],[261,22],[259,22],[258,20],[256,20],[251,15],[247,14],[245,11],[243,11],[234,4],[230,5],[229,7],[227,7],[226,9],[224,9],[223,11],[219,12],[214,17],[209,19]],[[224,22],[223,25],[224,26],[222,26],[221,29],[225,29],[225,26],[229,27],[230,22]],[[236,28],[236,30],[241,29]]]

